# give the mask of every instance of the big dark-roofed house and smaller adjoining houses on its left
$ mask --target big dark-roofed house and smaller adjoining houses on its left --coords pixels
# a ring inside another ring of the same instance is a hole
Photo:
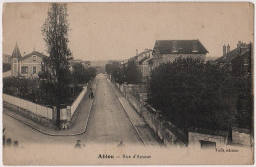
[[[143,80],[146,80],[150,71],[161,63],[173,62],[176,58],[200,58],[205,60],[207,49],[199,40],[156,40],[153,49],[145,49],[129,60],[134,60],[141,70]],[[122,61],[122,66],[127,65],[128,60]]]

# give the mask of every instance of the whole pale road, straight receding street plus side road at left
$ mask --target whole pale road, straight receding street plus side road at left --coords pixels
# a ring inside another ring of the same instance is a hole
[[[31,143],[59,143],[74,146],[76,140],[82,143],[143,145],[125,110],[118,101],[105,75],[97,75],[93,87],[96,88],[87,130],[84,134],[69,137],[56,137],[41,134],[27,125],[3,114],[6,137],[18,140],[19,145]]]

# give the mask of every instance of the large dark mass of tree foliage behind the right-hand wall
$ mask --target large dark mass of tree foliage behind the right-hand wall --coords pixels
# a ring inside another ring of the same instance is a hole
[[[177,59],[151,73],[148,102],[184,130],[250,128],[250,80],[201,60]]]

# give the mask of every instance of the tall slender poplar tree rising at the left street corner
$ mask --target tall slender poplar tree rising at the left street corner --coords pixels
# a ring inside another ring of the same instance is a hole
[[[65,101],[69,73],[70,60],[72,54],[68,48],[69,23],[67,20],[67,4],[52,3],[48,10],[48,17],[42,26],[42,34],[46,43],[49,58],[45,61],[45,67],[49,69],[50,77],[56,90],[57,126],[60,125],[60,104]]]

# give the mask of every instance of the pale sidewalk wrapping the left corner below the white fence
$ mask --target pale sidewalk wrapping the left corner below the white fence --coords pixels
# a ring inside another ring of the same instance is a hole
[[[93,91],[96,91],[96,83],[93,83],[92,85]],[[3,108],[3,113],[30,126],[32,129],[35,129],[45,135],[49,136],[75,136],[75,135],[80,135],[83,134],[86,131],[87,124],[88,124],[88,119],[90,116],[91,112],[91,107],[93,104],[94,99],[89,99],[88,98],[88,93],[87,92],[82,99],[80,105],[78,106],[75,114],[76,115],[76,120],[73,123],[73,126],[68,129],[68,130],[53,130],[47,127],[44,127],[42,125],[39,125],[35,123],[34,121],[21,116],[20,114],[10,111],[9,109]]]

